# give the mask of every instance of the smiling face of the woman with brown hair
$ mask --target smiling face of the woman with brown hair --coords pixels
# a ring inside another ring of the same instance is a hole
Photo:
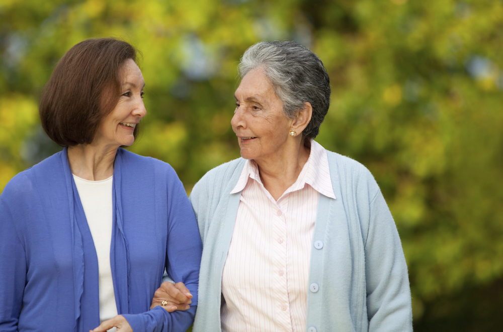
[[[123,70],[125,75],[119,101],[112,112],[101,121],[93,144],[130,146],[134,143],[134,128],[147,114],[143,105],[145,81],[140,68],[132,59],[128,59]]]

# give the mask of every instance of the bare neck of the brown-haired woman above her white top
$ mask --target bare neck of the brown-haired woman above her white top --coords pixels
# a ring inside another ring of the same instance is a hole
[[[86,180],[105,180],[114,174],[118,147],[79,144],[68,147],[68,163],[72,174]]]

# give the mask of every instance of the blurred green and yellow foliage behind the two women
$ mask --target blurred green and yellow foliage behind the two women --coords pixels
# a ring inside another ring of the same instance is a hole
[[[500,0],[0,0],[0,189],[60,148],[37,102],[77,42],[143,53],[148,115],[130,149],[186,189],[239,156],[236,65],[295,40],[329,73],[317,141],[365,164],[395,217],[415,330],[493,331],[503,318],[503,2]]]

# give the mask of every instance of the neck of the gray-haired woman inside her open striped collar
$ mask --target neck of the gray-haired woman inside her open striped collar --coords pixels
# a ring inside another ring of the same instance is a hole
[[[282,156],[267,160],[255,160],[259,167],[260,178],[264,187],[275,200],[297,181],[302,168],[309,159],[310,149],[299,144],[292,149],[285,149]]]

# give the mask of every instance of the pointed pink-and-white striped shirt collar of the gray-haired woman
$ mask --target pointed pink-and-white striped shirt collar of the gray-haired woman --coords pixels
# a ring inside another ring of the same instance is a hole
[[[242,191],[246,187],[249,178],[257,181],[258,183],[262,183],[260,179],[259,168],[253,160],[245,161],[241,175],[239,176],[236,185],[230,193],[234,194]],[[333,193],[326,150],[314,140],[311,140],[311,151],[309,153],[309,158],[302,168],[297,181],[295,181],[295,183],[285,191],[285,194],[288,192],[300,190],[304,188],[306,184],[309,184],[320,194],[328,198],[336,199],[336,195]]]

